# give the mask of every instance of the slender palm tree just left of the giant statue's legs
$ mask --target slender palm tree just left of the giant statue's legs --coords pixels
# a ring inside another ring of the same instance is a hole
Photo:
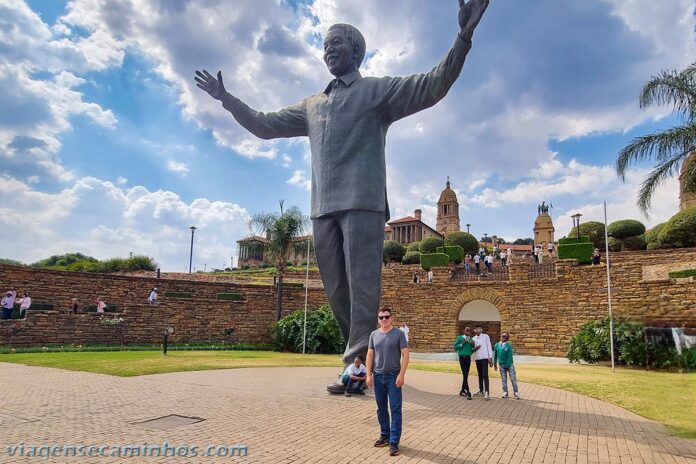
[[[257,213],[249,222],[250,229],[256,230],[257,235],[266,238],[265,243],[250,243],[256,243],[256,246],[261,247],[264,259],[268,259],[278,270],[276,320],[280,320],[282,311],[283,275],[288,269],[289,258],[292,255],[301,255],[307,249],[306,240],[301,240],[300,237],[304,234],[308,222],[297,206],[283,211],[283,201],[280,202],[280,214]]]

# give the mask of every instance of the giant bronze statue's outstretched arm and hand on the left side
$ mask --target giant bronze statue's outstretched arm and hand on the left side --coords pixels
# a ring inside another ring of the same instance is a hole
[[[196,71],[196,86],[222,102],[223,108],[246,130],[262,139],[299,137],[307,135],[307,115],[304,104],[284,108],[274,113],[261,113],[225,90],[222,72],[217,78],[205,69]]]

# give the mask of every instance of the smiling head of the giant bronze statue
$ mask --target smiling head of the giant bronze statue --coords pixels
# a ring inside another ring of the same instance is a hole
[[[334,24],[324,38],[324,62],[340,77],[360,67],[365,58],[365,38],[350,24]]]

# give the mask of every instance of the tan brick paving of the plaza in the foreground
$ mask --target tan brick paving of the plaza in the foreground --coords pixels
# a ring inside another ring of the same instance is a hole
[[[459,376],[421,371],[407,375],[402,454],[391,458],[372,447],[379,430],[371,393],[329,396],[325,385],[336,374],[267,368],[120,378],[0,363],[0,463],[696,463],[696,440],[608,403],[527,384],[521,401],[504,400],[497,379],[490,401],[467,401],[456,395]],[[171,430],[142,424],[169,414],[205,420]],[[199,453],[243,444],[248,454],[9,457],[7,446],[21,442],[167,442],[198,445]]]

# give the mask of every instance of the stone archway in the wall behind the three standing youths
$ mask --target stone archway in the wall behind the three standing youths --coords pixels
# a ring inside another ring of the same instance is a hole
[[[464,333],[464,327],[473,329],[480,325],[493,343],[500,339],[500,325],[507,315],[507,305],[500,294],[489,289],[471,289],[456,301],[458,334]]]

